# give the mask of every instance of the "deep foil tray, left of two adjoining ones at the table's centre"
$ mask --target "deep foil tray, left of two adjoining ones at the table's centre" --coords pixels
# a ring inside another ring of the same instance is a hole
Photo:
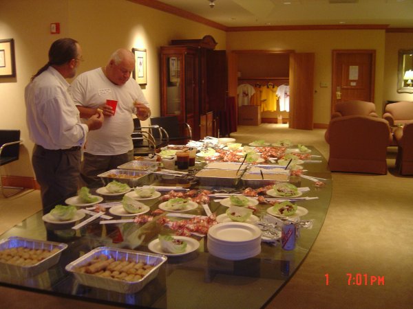
[[[204,169],[195,174],[199,179],[200,185],[211,185],[214,187],[233,187],[240,181],[244,170],[221,170]]]

